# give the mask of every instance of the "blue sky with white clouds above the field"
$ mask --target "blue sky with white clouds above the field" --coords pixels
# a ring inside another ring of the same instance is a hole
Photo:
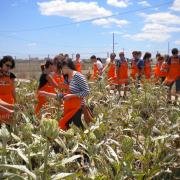
[[[180,49],[180,0],[1,0],[0,56]]]

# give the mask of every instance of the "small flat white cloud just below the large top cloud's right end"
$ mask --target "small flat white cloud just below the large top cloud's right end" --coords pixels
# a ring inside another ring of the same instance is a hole
[[[118,26],[118,27],[122,27],[123,25],[128,24],[128,21],[126,20],[119,20],[119,19],[115,19],[115,18],[102,18],[102,19],[98,19],[92,22],[95,25],[99,25],[99,26],[103,26],[103,27],[110,27],[113,24]]]

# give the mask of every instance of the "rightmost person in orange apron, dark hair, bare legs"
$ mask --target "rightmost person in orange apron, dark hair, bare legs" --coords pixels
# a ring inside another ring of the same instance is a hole
[[[163,84],[169,86],[169,92],[168,92],[168,102],[171,102],[171,90],[175,83],[176,85],[176,95],[175,95],[175,101],[178,99],[178,94],[180,92],[180,56],[178,55],[178,49],[173,48],[172,49],[172,56],[169,58],[168,65],[169,70],[168,74],[166,76],[166,79]]]

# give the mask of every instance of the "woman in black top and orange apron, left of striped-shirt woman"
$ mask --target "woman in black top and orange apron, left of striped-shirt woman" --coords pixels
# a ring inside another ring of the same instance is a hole
[[[47,60],[45,65],[41,65],[42,74],[39,79],[39,86],[36,98],[38,100],[35,106],[35,114],[40,116],[40,110],[48,103],[48,99],[39,94],[39,91],[46,91],[50,93],[55,93],[55,88],[59,88],[57,82],[54,80],[53,73],[53,62]]]

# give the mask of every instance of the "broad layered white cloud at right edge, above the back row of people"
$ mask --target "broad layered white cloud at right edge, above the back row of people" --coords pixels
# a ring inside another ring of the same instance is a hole
[[[145,25],[141,32],[126,34],[124,37],[137,41],[165,42],[169,40],[172,33],[180,32],[180,16],[169,12],[153,14],[140,14],[144,17]]]

